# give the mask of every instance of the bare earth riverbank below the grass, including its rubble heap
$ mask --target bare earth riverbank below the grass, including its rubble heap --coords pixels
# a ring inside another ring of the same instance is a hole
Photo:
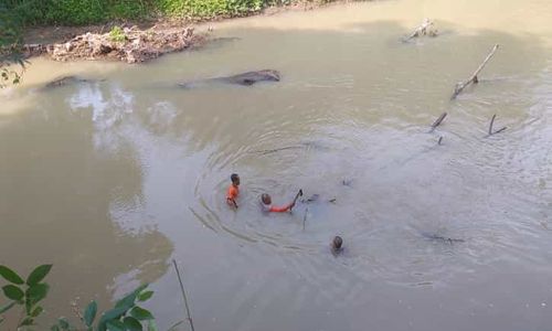
[[[306,11],[350,1],[293,1],[252,11],[251,15],[274,15],[284,11]],[[243,15],[238,15],[243,17]],[[198,47],[208,40],[210,23],[236,17],[166,17],[136,22],[113,21],[103,25],[43,26],[25,30],[23,55],[47,55],[54,61],[118,60],[141,63],[167,53]],[[200,25],[200,33],[193,25]]]

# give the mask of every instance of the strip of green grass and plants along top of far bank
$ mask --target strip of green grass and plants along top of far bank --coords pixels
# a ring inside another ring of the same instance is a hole
[[[0,0],[22,26],[85,25],[157,17],[209,19],[252,14],[268,6],[331,0]]]

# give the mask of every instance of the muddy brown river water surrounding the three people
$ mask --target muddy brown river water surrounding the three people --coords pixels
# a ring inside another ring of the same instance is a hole
[[[439,36],[402,43],[424,18]],[[54,264],[45,323],[150,282],[168,328],[174,258],[197,330],[550,330],[551,22],[543,0],[362,2],[147,65],[33,60],[0,92],[0,264]],[[176,87],[262,68],[282,81]],[[98,81],[40,89],[67,74]],[[299,188],[319,201],[259,212]]]

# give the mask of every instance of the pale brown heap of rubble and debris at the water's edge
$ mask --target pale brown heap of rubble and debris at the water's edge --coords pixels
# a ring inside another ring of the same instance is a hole
[[[125,28],[118,38],[110,33],[85,33],[59,44],[28,44],[28,55],[49,54],[55,61],[113,58],[126,63],[146,62],[166,53],[189,49],[204,41],[193,28],[139,30]]]

